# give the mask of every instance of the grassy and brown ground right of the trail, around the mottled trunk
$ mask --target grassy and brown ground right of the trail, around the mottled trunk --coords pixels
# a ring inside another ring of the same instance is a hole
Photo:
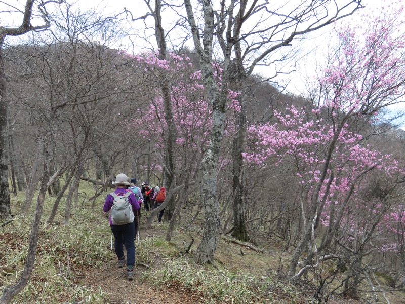
[[[166,231],[167,224],[159,227]],[[195,264],[192,256],[200,238],[194,240],[190,253],[183,254],[182,251],[191,241],[191,236],[197,236],[197,233],[195,227],[179,225],[170,242],[161,236],[149,236],[143,240],[137,247],[137,259],[151,265],[156,260],[166,262],[144,272],[141,282],[149,282],[154,288],[183,286],[207,303],[302,303],[300,292],[292,286],[275,282],[268,275],[279,266],[278,257],[241,249],[220,239],[214,265],[202,267]],[[305,303],[311,302],[314,301],[305,300]]]

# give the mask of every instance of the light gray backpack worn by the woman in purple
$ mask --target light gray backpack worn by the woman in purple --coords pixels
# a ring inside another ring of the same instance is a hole
[[[110,195],[114,198],[111,207],[111,221],[113,225],[125,225],[134,222],[134,212],[132,205],[128,199],[132,191],[116,194],[111,192]]]

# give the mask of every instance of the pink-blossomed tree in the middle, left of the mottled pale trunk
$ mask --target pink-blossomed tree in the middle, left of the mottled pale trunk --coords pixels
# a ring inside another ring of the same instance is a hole
[[[201,146],[197,149],[195,145],[205,141],[200,136],[204,137],[206,124],[210,122],[206,119],[207,101],[199,85],[199,74],[192,66],[191,59],[186,55],[177,55],[173,52],[168,53],[165,59],[160,59],[156,52],[136,55],[122,52],[121,57],[123,62],[132,68],[132,73],[137,75],[139,82],[143,83],[143,90],[139,94],[144,99],[144,103],[136,109],[139,116],[128,123],[128,128],[137,130],[142,142],[150,141],[155,151],[152,159],[153,166],[160,167],[163,173],[167,172],[174,177],[179,173],[178,170],[185,170],[185,167],[180,164],[183,161],[186,167],[192,168],[183,176],[193,176],[196,174],[194,162],[198,162],[198,153],[201,153]],[[164,91],[161,88],[162,78],[165,79]],[[163,92],[166,92],[166,95]],[[167,115],[168,102],[170,116]],[[169,133],[173,132],[169,132],[168,121],[174,124],[176,131],[172,134],[175,141],[171,144]],[[190,142],[191,134],[200,140]],[[169,150],[170,159],[172,159],[170,162]],[[189,157],[185,151],[194,151],[196,155]],[[192,159],[194,160],[191,161]],[[179,168],[177,168],[178,165]],[[183,178],[178,177],[177,183],[182,183]],[[168,180],[164,183],[165,186],[170,184]]]

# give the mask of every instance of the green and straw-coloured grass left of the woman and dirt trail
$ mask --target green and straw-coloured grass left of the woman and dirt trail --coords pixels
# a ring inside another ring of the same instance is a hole
[[[62,218],[47,225],[52,203],[53,198],[47,198],[30,280],[13,303],[104,303],[105,293],[100,288],[85,287],[83,280],[86,271],[112,258],[108,221],[102,212],[76,208],[68,225],[62,224]],[[15,215],[0,230],[1,293],[23,272],[33,212],[28,213],[31,216]]]

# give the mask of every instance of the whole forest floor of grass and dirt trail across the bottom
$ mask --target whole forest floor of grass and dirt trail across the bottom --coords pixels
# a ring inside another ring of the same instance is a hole
[[[52,204],[48,205],[51,209]],[[143,216],[146,219],[149,214]],[[254,246],[222,235],[213,264],[201,267],[192,258],[204,219],[186,220],[186,213],[182,219],[186,224],[177,223],[166,241],[167,223],[153,222],[145,229],[141,218],[133,281],[127,279],[125,268],[117,266],[103,212],[78,208],[69,225],[61,225],[61,218],[53,225],[42,225],[35,268],[13,303],[322,303],[314,298],[319,289],[315,276],[328,275],[336,267],[332,262],[322,264],[300,284],[292,284],[285,276],[291,252],[282,250],[282,241],[256,238]],[[27,216],[17,216],[0,230],[0,291],[2,285],[16,283],[21,274],[30,222]],[[329,304],[405,303],[405,293],[386,287],[383,274],[373,287],[365,280],[358,299],[342,297],[338,291],[345,276],[339,273],[318,294],[329,296]]]

